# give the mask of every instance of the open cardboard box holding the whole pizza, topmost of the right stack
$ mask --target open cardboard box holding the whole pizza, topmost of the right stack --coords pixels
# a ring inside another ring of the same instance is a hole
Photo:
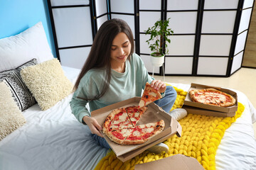
[[[204,109],[207,109],[207,110],[210,110],[210,111],[219,111],[219,112],[224,112],[224,113],[233,113],[233,112],[238,111],[238,95],[235,93],[235,91],[231,91],[229,89],[223,89],[223,88],[218,87],[218,86],[207,86],[207,85],[203,85],[203,84],[193,84],[193,83],[191,83],[191,87],[190,87],[190,89],[188,89],[188,93],[189,93],[189,91],[191,91],[193,89],[207,89],[207,88],[217,89],[219,91],[225,92],[226,94],[230,94],[236,100],[235,105],[230,106],[230,107],[220,107],[220,106],[207,105],[207,104],[203,104],[203,103],[196,103],[196,102],[191,101],[191,98],[189,97],[189,94],[187,94],[183,105],[193,106],[193,107],[196,107],[196,108],[204,108]]]

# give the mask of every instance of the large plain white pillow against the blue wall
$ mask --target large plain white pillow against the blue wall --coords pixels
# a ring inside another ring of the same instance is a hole
[[[53,59],[41,22],[18,35],[0,39],[0,72],[15,69],[33,58],[38,63]]]

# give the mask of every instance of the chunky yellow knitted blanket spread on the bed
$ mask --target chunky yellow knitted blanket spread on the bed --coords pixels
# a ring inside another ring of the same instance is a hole
[[[171,111],[175,108],[181,108],[187,94],[187,92],[182,89],[177,89],[176,87],[174,87],[174,89],[176,89],[178,96]],[[188,114],[185,118],[179,120],[182,127],[181,137],[174,135],[164,141],[164,143],[169,146],[169,152],[154,154],[144,151],[142,154],[137,155],[137,157],[127,162],[121,162],[117,159],[114,152],[111,151],[100,160],[95,170],[134,169],[135,164],[155,161],[164,157],[170,157],[174,154],[184,154],[189,157],[194,157],[204,169],[215,169],[215,154],[220,140],[225,130],[240,117],[244,109],[245,107],[241,103],[238,103],[238,111],[235,116],[231,118]]]

